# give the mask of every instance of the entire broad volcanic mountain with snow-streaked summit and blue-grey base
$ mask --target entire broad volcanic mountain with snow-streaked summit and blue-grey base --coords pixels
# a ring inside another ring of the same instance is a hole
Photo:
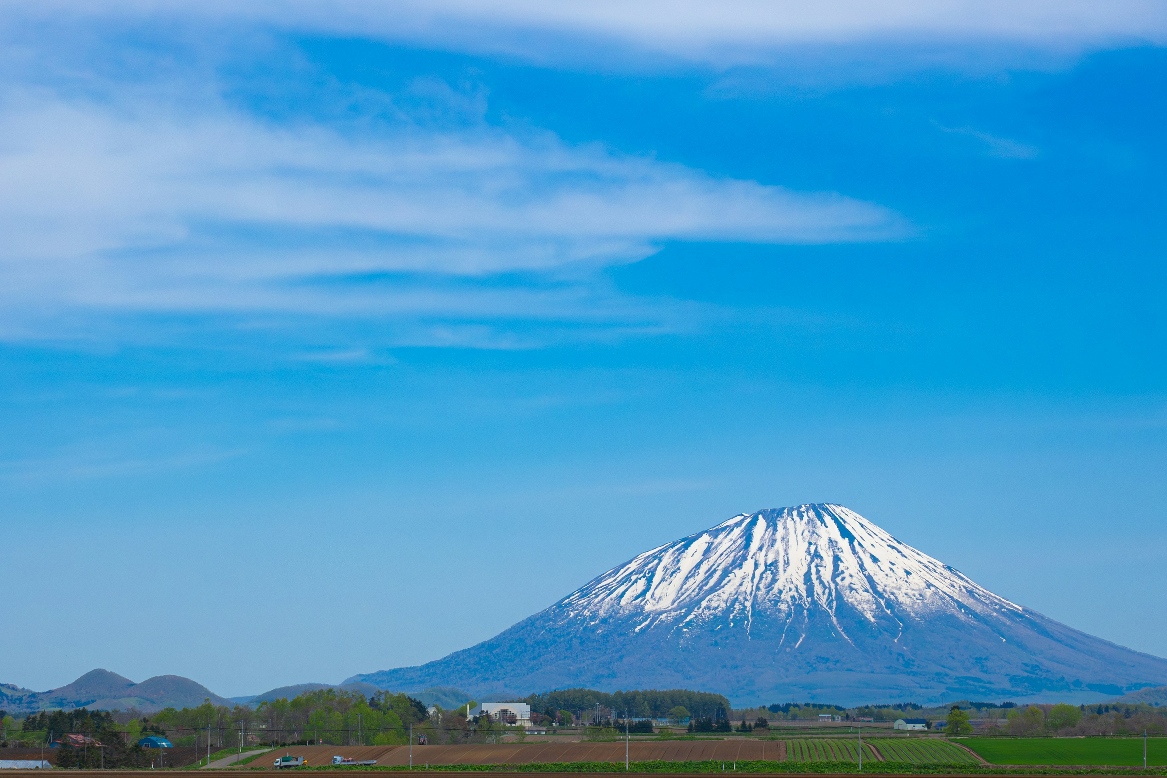
[[[735,703],[1100,699],[1167,660],[1016,605],[840,505],[740,514],[476,646],[364,675],[473,694],[700,688]]]

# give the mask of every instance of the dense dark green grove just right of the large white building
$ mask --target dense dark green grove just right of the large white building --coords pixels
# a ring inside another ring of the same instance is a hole
[[[666,719],[677,708],[690,716],[721,721],[729,719],[729,700],[721,694],[689,689],[643,689],[637,692],[598,692],[595,689],[558,689],[532,694],[523,700],[531,710],[566,710],[589,719],[599,706],[602,717]]]

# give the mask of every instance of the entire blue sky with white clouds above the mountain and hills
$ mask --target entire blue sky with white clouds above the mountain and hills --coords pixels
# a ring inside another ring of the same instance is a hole
[[[4,13],[0,681],[340,681],[820,500],[1167,654],[1160,7]]]

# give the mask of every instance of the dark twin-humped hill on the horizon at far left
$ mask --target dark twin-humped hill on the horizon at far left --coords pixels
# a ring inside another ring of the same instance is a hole
[[[0,708],[12,713],[47,709],[89,708],[91,710],[161,710],[194,708],[209,699],[215,705],[232,705],[202,684],[181,675],[155,675],[141,684],[107,670],[92,670],[72,684],[48,692],[32,692],[8,684],[0,686]]]

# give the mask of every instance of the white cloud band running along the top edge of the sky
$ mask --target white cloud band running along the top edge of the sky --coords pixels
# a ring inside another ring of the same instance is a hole
[[[799,45],[1005,43],[1064,51],[1167,40],[1167,8],[1155,0],[95,0],[83,7],[42,0],[25,13],[182,17],[593,64],[648,54],[732,65]]]

